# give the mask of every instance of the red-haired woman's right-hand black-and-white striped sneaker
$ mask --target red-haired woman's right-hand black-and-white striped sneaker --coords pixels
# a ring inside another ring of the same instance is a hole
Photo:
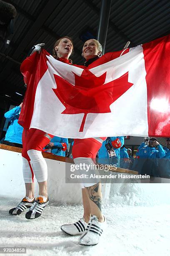
[[[25,214],[26,219],[35,219],[41,216],[42,211],[45,206],[49,203],[49,199],[47,197],[46,202],[43,201],[42,197],[37,197],[34,204],[30,207],[30,210]]]

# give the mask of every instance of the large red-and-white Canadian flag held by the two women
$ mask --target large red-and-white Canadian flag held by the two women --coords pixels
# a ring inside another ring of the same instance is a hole
[[[83,69],[47,51],[23,61],[19,123],[62,138],[170,137],[170,36]]]

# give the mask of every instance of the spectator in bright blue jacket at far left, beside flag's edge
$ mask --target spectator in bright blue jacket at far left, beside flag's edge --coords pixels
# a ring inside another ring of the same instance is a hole
[[[23,103],[21,103],[18,107],[15,107],[5,113],[5,118],[10,122],[10,126],[7,129],[5,140],[3,144],[9,146],[15,146],[22,148],[22,134],[23,127],[19,125],[18,118],[20,116],[21,108]]]

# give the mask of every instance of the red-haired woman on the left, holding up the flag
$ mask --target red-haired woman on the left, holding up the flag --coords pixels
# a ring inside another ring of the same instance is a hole
[[[36,51],[40,53],[42,46],[45,44],[37,44],[31,49],[30,55]],[[69,59],[72,54],[72,39],[64,36],[58,39],[53,48],[53,57],[67,64],[72,64]],[[28,84],[29,87],[29,84]],[[9,213],[20,215],[23,210],[30,208],[25,214],[27,219],[35,219],[41,216],[42,211],[48,205],[49,199],[47,195],[47,164],[42,156],[42,149],[50,143],[54,136],[44,131],[30,128],[23,131],[23,178],[25,182],[26,195],[17,207],[10,209]],[[64,145],[65,146],[65,145]],[[39,184],[39,195],[35,199],[34,181],[35,178]]]

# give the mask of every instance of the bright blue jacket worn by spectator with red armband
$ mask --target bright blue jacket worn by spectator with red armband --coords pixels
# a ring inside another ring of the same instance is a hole
[[[115,141],[115,139],[119,138],[120,142],[121,142],[121,146],[123,146],[124,144],[124,137],[120,136],[120,137],[108,137],[105,141],[103,141],[102,146],[99,150],[99,154],[98,154],[98,163],[100,164],[116,164],[117,167],[119,167],[120,165],[120,148],[114,148],[115,150],[115,154],[116,156],[110,157],[109,153],[105,147],[105,144],[110,142],[110,144],[112,145],[112,141]]]

